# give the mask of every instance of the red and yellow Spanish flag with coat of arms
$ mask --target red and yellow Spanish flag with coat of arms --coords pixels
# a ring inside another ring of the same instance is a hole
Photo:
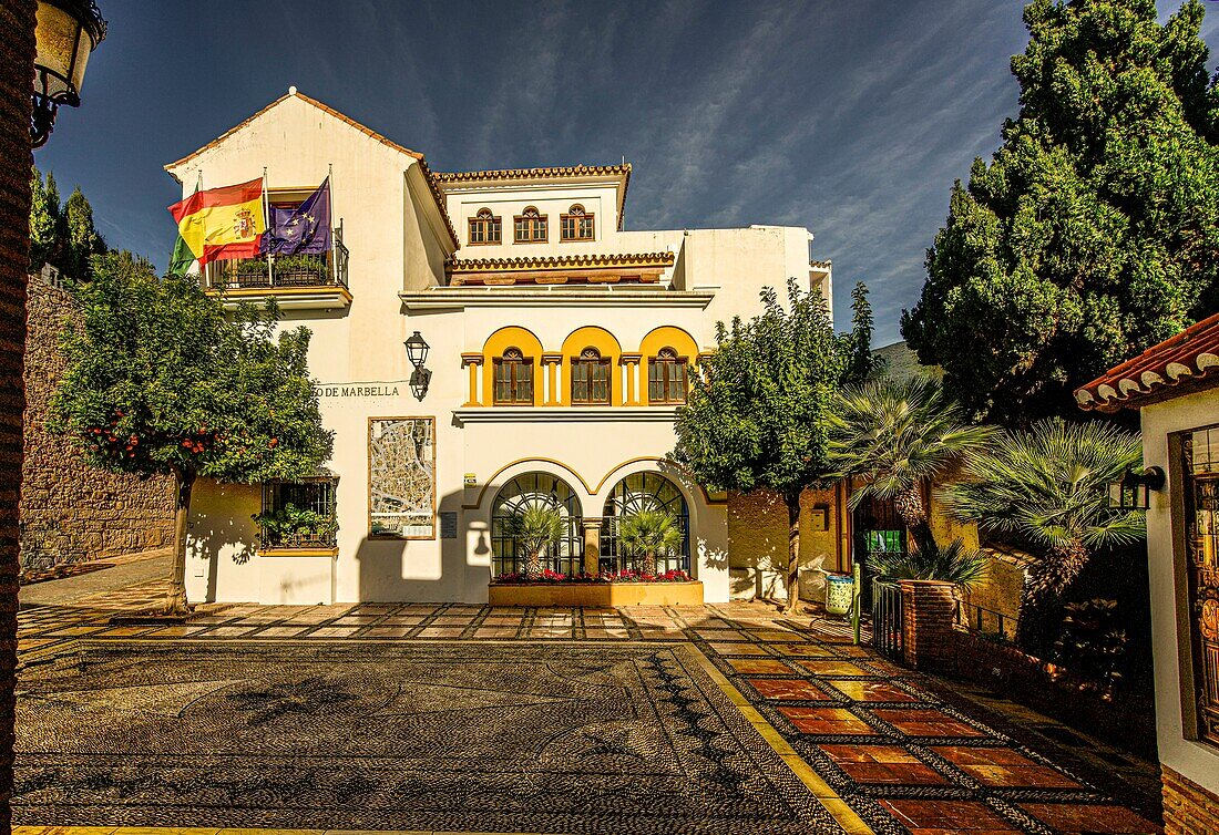
[[[256,257],[267,229],[261,178],[195,191],[169,206],[169,213],[200,267],[212,261]]]

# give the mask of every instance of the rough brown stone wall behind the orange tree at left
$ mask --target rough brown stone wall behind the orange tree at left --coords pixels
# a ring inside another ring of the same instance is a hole
[[[26,570],[167,549],[173,545],[173,486],[89,467],[68,439],[48,432],[59,349],[72,296],[30,277],[26,354],[26,439],[21,489],[21,563]]]

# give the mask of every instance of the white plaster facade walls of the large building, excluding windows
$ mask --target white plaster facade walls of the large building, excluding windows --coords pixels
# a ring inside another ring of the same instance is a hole
[[[414,157],[289,98],[174,173],[184,194],[194,191],[197,171],[204,173],[204,188],[212,188],[260,177],[263,167],[272,188],[302,188],[321,183],[332,163],[334,215],[344,219],[344,240],[351,254],[352,302],[345,310],[286,312],[282,327],[304,324],[313,334],[310,369],[322,386],[323,421],[335,432],[328,468],[339,477],[339,555],[329,569],[329,558],[310,562],[254,556],[256,530],[250,516],[260,510],[258,489],[201,484],[190,522],[188,583],[194,600],[317,602],[315,597],[324,599],[328,572],[335,601],[485,600],[490,502],[494,488],[516,471],[496,477],[495,485],[480,491],[482,501],[464,488],[466,473],[474,473],[482,486],[512,462],[562,461],[573,471],[569,483],[580,491],[586,513],[600,516],[605,496],[619,478],[633,469],[661,469],[656,460],[673,449],[674,436],[672,419],[624,419],[624,414],[613,413],[596,422],[550,413],[545,421],[463,423],[455,417],[467,399],[468,372],[461,367],[461,355],[482,351],[486,338],[505,325],[529,328],[547,351],[558,351],[569,333],[589,324],[610,330],[627,352],[638,351],[644,336],[662,324],[683,328],[700,346],[711,346],[714,322],[756,312],[761,286],[783,286],[789,275],[808,275],[805,229],[618,233],[611,223],[616,222],[613,184],[567,188],[551,183],[541,190],[525,190],[528,195],[505,195],[505,200],[519,200],[519,207],[538,205],[551,215],[552,224],[551,243],[516,249],[508,244],[502,247],[508,255],[574,252],[570,247],[577,245],[558,243],[558,215],[572,202],[581,202],[597,212],[599,239],[589,246],[617,252],[672,249],[677,263],[667,271],[666,283],[672,280],[678,289],[714,289],[711,306],[472,305],[410,313],[397,294],[442,284],[444,258],[450,251],[436,229],[432,195],[421,188],[425,183]],[[460,200],[449,196],[450,207],[458,207],[453,223],[460,235],[466,234],[463,218],[488,199],[486,194]],[[503,211],[506,240],[511,240],[516,211]],[[490,257],[492,249],[466,247],[461,257]],[[402,346],[414,330],[432,346],[427,366],[433,377],[423,402],[410,393],[411,366]],[[541,378],[539,374],[539,384]],[[333,394],[361,384],[379,386],[380,393]],[[638,386],[639,393],[646,390],[646,364],[640,368]],[[368,538],[368,421],[374,417],[435,419],[436,510],[458,513],[457,539],[439,539],[439,522],[438,538],[432,540]],[[513,466],[535,468],[536,463]],[[727,505],[714,497],[708,501],[695,485],[681,486],[697,551],[692,570],[703,581],[708,601],[727,600]]]

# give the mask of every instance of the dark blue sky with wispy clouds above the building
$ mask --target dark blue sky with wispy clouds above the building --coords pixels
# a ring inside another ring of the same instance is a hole
[[[35,163],[85,191],[111,246],[165,267],[180,193],[161,166],[295,84],[436,171],[625,156],[628,228],[808,227],[837,325],[864,280],[878,345],[918,299],[952,180],[1015,112],[1026,39],[1017,0],[100,5],[84,105]]]

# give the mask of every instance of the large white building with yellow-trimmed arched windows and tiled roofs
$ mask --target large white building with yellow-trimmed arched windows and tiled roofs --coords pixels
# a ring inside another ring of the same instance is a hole
[[[668,567],[707,601],[729,597],[730,502],[664,458],[685,363],[717,321],[758,312],[759,289],[789,277],[829,299],[806,229],[628,230],[629,165],[434,173],[295,90],[166,169],[183,195],[266,171],[277,204],[329,173],[341,232],[318,268],[205,271],[226,302],[273,296],[284,327],[312,330],[335,445],[333,479],[196,486],[193,600],[485,601],[514,567],[497,514],[521,501],[568,513],[552,553],[567,572],[620,566],[603,519],[659,501],[689,521],[688,558]],[[429,346],[422,399],[405,346],[416,332]],[[251,516],[285,502],[333,506],[336,538],[260,540]],[[846,534],[829,535],[845,564]]]

